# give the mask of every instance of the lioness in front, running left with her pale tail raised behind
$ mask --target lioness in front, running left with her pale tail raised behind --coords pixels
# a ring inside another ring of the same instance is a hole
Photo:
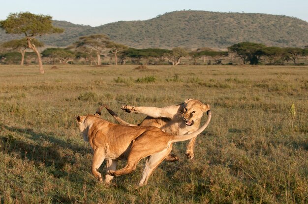
[[[210,106],[208,106],[208,110]],[[211,121],[211,112],[207,122],[196,132],[186,135],[171,135],[156,127],[122,126],[110,123],[95,115],[75,116],[83,139],[90,143],[94,152],[92,174],[100,182],[103,181],[98,168],[107,159],[107,175],[109,183],[113,176],[128,174],[136,169],[140,159],[147,157],[146,165],[139,186],[146,185],[154,169],[172,150],[172,144],[188,140],[200,134]],[[123,169],[117,169],[118,160],[127,159]]]

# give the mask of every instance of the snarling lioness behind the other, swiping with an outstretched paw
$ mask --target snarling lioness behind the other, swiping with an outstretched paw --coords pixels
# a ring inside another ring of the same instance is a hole
[[[154,126],[173,135],[184,135],[196,131],[200,126],[203,113],[208,110],[208,105],[203,104],[197,99],[186,99],[185,102],[181,104],[162,108],[123,105],[121,109],[128,113],[135,112],[148,115],[139,125],[134,125],[123,121],[107,105],[102,105],[98,108],[96,113],[100,115],[100,111],[103,107],[105,107],[121,125]],[[195,141],[196,137],[193,137],[187,145],[185,154],[189,159],[194,157],[193,148],[195,146]],[[176,161],[178,157],[171,154],[166,157],[166,160]]]

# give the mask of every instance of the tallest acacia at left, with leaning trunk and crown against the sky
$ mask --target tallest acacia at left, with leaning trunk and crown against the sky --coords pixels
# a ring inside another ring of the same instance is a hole
[[[41,35],[63,32],[62,28],[52,25],[52,17],[30,12],[11,13],[6,20],[0,21],[0,27],[8,34],[25,34],[28,48],[37,54],[40,74],[44,74],[42,59],[33,39]]]

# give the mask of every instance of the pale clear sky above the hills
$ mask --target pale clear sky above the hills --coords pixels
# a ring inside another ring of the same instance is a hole
[[[308,22],[308,0],[0,0],[0,20],[9,13],[29,11],[53,20],[100,26],[184,9],[286,15]]]

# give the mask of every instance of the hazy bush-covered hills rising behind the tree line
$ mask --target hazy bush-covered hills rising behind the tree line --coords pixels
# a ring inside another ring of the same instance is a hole
[[[135,48],[226,48],[239,42],[277,47],[308,45],[308,22],[297,18],[252,13],[175,11],[146,21],[120,21],[103,26],[74,25],[54,21],[65,32],[44,36],[50,46],[67,46],[78,37],[107,34],[111,40]],[[0,31],[0,42],[12,39]]]

